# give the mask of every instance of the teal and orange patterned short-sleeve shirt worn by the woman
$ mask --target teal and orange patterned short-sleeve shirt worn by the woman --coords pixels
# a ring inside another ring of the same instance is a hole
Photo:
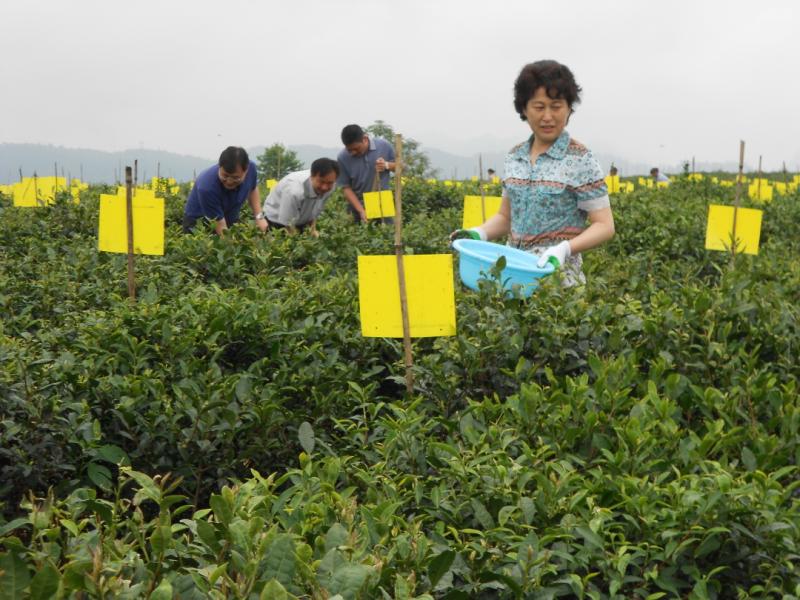
[[[533,136],[506,156],[503,187],[511,206],[511,241],[546,245],[586,228],[587,213],[610,206],[600,164],[564,130],[531,165]]]

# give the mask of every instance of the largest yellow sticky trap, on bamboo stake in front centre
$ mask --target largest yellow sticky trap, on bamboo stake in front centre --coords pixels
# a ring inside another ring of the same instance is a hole
[[[415,254],[403,257],[411,337],[456,334],[453,257]],[[403,337],[397,257],[358,257],[361,335]]]

